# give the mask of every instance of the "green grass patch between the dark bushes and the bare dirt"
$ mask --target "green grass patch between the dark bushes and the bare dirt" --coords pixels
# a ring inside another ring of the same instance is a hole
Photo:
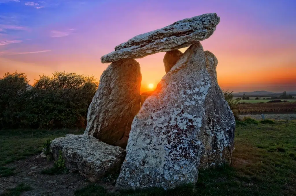
[[[41,153],[46,140],[66,134],[82,134],[83,130],[0,130],[0,166]]]

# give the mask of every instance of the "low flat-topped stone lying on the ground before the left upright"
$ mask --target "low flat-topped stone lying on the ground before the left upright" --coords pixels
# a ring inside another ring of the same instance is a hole
[[[54,159],[59,158],[59,151],[70,171],[79,171],[91,182],[105,174],[118,172],[125,157],[125,150],[111,146],[89,135],[67,134],[54,139],[50,144]]]

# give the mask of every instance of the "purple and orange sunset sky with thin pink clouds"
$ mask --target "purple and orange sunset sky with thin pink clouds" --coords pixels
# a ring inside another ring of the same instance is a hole
[[[95,75],[116,45],[184,18],[216,12],[204,50],[218,58],[222,89],[296,91],[295,0],[0,0],[0,76],[30,84],[54,71]],[[181,50],[184,52],[184,49]],[[137,59],[142,91],[165,75],[163,56]]]

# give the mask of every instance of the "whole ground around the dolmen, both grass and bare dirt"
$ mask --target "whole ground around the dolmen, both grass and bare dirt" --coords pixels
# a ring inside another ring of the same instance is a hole
[[[36,158],[43,143],[47,139],[65,136],[68,133],[81,134],[83,131],[2,130],[0,195],[296,195],[296,121],[244,123],[244,126],[237,125],[236,128],[233,165],[200,170],[195,192],[192,192],[192,186],[188,185],[168,191],[151,189],[119,193],[114,192],[116,178],[91,183],[77,173],[42,174],[44,168],[53,165],[53,162],[47,162],[46,158]],[[32,171],[33,175],[28,175]]]

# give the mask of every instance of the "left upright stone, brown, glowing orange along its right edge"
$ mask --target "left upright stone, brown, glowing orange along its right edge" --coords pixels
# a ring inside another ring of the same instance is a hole
[[[89,106],[84,134],[126,147],[131,123],[140,110],[141,71],[136,60],[111,63],[102,73]]]

